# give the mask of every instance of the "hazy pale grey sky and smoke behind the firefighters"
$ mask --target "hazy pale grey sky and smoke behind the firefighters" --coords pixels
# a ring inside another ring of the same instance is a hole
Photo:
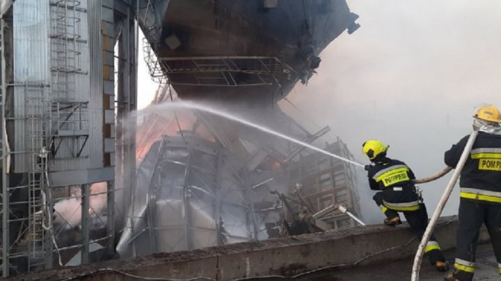
[[[501,1],[348,4],[361,27],[331,43],[319,74],[288,99],[331,126],[330,137],[341,137],[358,160],[367,162],[361,144],[376,138],[418,178],[436,173],[445,167],[443,152],[470,133],[475,106],[501,106]],[[303,114],[287,112],[315,129]],[[429,213],[449,178],[421,186]],[[360,187],[363,203],[372,204],[367,183]],[[456,189],[445,214],[456,214],[458,201]],[[371,205],[364,216],[382,219],[376,212]]]

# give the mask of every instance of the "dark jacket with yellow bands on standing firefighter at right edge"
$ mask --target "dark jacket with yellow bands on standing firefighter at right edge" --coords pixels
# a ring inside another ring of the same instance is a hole
[[[445,164],[456,168],[468,137],[463,137],[445,152]],[[501,135],[479,132],[461,171],[459,185],[461,198],[501,203]]]

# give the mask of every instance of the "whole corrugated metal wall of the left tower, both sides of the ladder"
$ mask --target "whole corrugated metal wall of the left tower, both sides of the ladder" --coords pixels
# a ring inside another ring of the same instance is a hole
[[[14,3],[13,150],[24,152],[15,154],[16,172],[28,171],[30,146],[40,149],[44,145],[52,152],[57,148],[50,157],[50,171],[103,167],[102,1],[82,0],[75,8],[71,2],[62,1],[59,6],[49,0]],[[77,108],[78,114],[68,114],[70,107]],[[61,108],[64,114],[58,113]],[[35,118],[45,121],[30,128]],[[75,132],[76,124],[79,133],[61,137],[63,127]],[[40,140],[33,144],[33,137],[27,135],[38,132]]]

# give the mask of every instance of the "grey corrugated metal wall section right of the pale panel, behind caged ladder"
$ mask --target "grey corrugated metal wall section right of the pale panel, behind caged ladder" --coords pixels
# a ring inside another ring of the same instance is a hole
[[[100,46],[100,6],[95,6],[98,1],[81,1],[80,11],[70,11],[69,16],[73,15],[79,19],[76,24],[76,34],[79,42],[77,42],[77,52],[75,56],[75,65],[79,69],[77,74],[70,75],[67,80],[68,91],[66,96],[53,96],[56,99],[63,99],[74,102],[85,102],[87,108],[84,110],[83,119],[87,122],[84,124],[84,130],[88,133],[88,140],[85,143],[80,157],[75,157],[76,151],[81,147],[85,140],[84,137],[65,137],[60,139],[62,145],[59,146],[59,151],[54,157],[54,161],[50,167],[51,171],[73,170],[73,169],[92,169],[102,167],[102,79],[101,72],[95,69],[93,65],[99,64],[100,53],[92,52],[91,49]],[[61,9],[52,6],[51,9]],[[69,28],[72,31],[72,28]],[[53,33],[60,31],[54,30]],[[58,40],[52,40],[52,49],[58,49]],[[56,53],[53,51],[52,62],[56,61]],[[71,54],[68,54],[71,56]],[[97,62],[96,62],[97,61]],[[53,85],[57,80],[57,73],[53,71]],[[97,77],[97,78],[96,78]],[[64,81],[63,81],[64,82]],[[73,88],[74,87],[74,88]],[[55,88],[55,87],[54,87]],[[53,92],[54,94],[55,91]],[[78,118],[78,117],[72,117]]]

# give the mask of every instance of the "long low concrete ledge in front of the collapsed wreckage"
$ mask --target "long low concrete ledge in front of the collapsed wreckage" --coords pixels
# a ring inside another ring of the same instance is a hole
[[[440,219],[435,233],[443,250],[455,246],[457,224],[455,216]],[[480,240],[488,241],[484,229]],[[292,277],[326,266],[347,268],[411,257],[415,255],[418,243],[406,226],[369,225],[288,239],[113,260],[13,279],[61,280],[86,276],[85,280],[136,280],[117,271],[148,278],[177,279],[205,277],[233,280],[261,275]]]

